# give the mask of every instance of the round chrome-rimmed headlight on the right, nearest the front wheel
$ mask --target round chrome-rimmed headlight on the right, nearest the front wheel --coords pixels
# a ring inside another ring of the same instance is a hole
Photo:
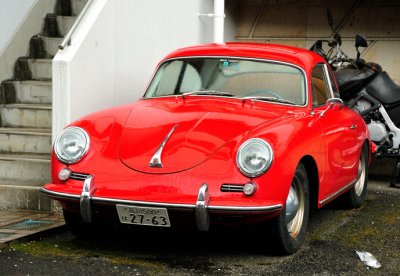
[[[272,160],[271,146],[259,138],[244,142],[236,155],[237,166],[248,177],[256,177],[266,172],[271,166]]]

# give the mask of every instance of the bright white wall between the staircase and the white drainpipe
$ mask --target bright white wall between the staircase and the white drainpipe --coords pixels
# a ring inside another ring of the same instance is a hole
[[[212,18],[198,16],[212,12],[213,0],[93,1],[71,46],[53,60],[53,137],[85,114],[141,97],[170,51],[212,42]]]

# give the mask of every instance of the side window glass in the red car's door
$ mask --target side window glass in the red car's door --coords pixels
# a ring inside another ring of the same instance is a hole
[[[330,90],[325,78],[324,65],[317,64],[311,73],[313,106],[321,106],[326,104],[326,101],[331,98]]]

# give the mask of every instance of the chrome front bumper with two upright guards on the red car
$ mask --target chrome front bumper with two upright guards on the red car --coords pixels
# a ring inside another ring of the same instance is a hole
[[[67,193],[59,193],[46,188],[42,188],[41,192],[54,197],[56,199],[72,199],[79,200],[80,213],[82,220],[86,223],[93,221],[92,203],[106,203],[106,204],[127,204],[127,205],[139,205],[147,207],[163,207],[163,208],[182,208],[192,209],[195,211],[196,225],[199,231],[208,231],[210,228],[209,211],[216,212],[235,212],[235,213],[272,213],[282,210],[282,204],[269,205],[269,206],[213,206],[209,205],[210,194],[208,192],[208,185],[202,184],[196,204],[173,204],[173,203],[162,203],[162,202],[147,202],[147,201],[132,201],[123,199],[103,198],[93,196],[96,191],[94,185],[93,176],[88,176],[83,184],[81,195],[72,195]]]

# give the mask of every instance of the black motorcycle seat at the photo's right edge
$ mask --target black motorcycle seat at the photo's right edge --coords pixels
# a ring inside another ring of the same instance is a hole
[[[400,86],[386,72],[380,72],[366,87],[368,94],[383,104],[400,102]]]

